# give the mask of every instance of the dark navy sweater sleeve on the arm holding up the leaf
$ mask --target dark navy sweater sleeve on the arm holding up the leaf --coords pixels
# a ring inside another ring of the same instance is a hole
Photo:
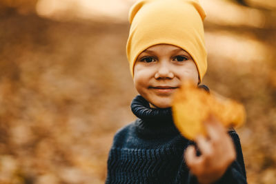
[[[228,134],[231,136],[235,145],[237,158],[231,163],[223,176],[214,184],[246,184],[246,170],[244,166],[244,156],[242,154],[242,146],[239,141],[239,136],[235,130],[230,130]],[[198,184],[196,176],[189,174],[188,184]]]

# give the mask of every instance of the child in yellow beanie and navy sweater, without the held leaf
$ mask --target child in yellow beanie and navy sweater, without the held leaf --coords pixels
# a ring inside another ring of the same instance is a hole
[[[138,119],[115,135],[106,183],[246,183],[239,137],[214,116],[208,138],[181,136],[172,121],[172,94],[206,72],[203,20],[197,0],[142,0],[130,9],[127,56]]]

